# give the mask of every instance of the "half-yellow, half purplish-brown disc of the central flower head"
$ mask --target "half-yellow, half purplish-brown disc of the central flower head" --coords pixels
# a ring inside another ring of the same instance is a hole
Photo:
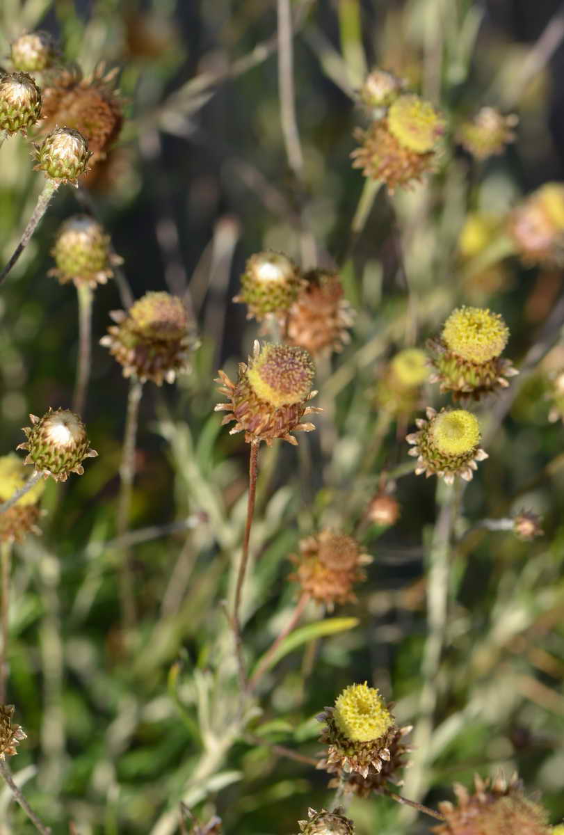
[[[274,408],[303,402],[311,392],[315,366],[304,348],[266,342],[249,366],[250,387]]]

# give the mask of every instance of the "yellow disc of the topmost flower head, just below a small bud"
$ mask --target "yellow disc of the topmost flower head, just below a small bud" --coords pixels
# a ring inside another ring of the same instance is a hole
[[[431,102],[414,94],[395,99],[388,111],[390,133],[415,154],[426,154],[436,147],[445,131],[445,120]]]

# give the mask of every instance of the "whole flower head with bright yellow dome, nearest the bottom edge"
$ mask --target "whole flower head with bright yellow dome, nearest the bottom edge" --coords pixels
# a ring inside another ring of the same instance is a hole
[[[398,729],[390,706],[366,682],[345,687],[335,707],[326,707],[318,719],[326,723],[320,741],[328,746],[318,768],[366,778],[390,762],[389,746]]]

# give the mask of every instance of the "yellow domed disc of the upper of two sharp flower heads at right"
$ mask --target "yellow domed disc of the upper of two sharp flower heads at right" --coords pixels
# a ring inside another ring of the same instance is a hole
[[[500,356],[509,328],[498,313],[481,307],[460,307],[446,320],[442,338],[459,357],[482,363]]]

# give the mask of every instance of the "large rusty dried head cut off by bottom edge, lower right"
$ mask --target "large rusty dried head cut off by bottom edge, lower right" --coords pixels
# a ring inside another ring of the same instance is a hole
[[[445,822],[434,827],[438,835],[549,835],[546,811],[524,796],[516,775],[509,782],[476,776],[474,788],[471,794],[456,783],[456,805],[439,804]]]

